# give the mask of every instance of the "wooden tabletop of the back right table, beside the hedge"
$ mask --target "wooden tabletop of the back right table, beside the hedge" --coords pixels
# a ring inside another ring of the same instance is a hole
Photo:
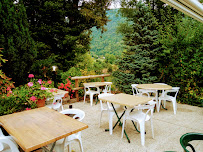
[[[151,89],[151,90],[170,90],[172,86],[161,84],[138,84],[136,86],[139,89]]]

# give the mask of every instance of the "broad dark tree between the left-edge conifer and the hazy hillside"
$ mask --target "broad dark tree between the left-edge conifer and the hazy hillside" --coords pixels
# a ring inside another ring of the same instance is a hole
[[[38,46],[43,57],[37,57],[33,72],[49,69],[53,64],[62,71],[73,67],[78,63],[75,58],[89,51],[89,29],[96,26],[103,30],[107,22],[108,0],[23,0],[23,3],[32,37],[40,42],[37,45],[44,45]]]

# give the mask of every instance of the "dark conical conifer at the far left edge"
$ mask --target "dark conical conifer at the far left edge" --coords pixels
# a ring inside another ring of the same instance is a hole
[[[0,1],[0,47],[4,48],[2,54],[8,60],[2,70],[16,85],[26,82],[37,55],[26,18],[22,3]]]

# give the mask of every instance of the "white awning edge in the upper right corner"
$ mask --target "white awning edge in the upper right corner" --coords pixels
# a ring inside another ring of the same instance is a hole
[[[203,5],[198,0],[161,0],[203,23]]]

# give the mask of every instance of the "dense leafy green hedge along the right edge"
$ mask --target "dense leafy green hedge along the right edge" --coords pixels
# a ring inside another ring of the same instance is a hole
[[[203,25],[188,17],[175,25],[161,33],[161,81],[181,87],[180,102],[203,106]]]

